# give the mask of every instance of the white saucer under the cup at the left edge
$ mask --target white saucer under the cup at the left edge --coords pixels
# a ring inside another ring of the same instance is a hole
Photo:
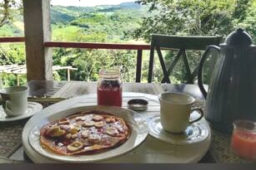
[[[0,106],[0,122],[11,122],[11,121],[16,121],[20,119],[26,119],[32,116],[33,114],[37,113],[41,109],[43,109],[42,104],[28,101],[28,109],[24,114],[10,117],[7,114],[5,114],[5,112],[3,111],[3,106],[1,105]]]

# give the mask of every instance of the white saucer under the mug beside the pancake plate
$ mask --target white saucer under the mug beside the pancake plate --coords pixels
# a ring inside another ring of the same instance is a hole
[[[188,126],[183,134],[171,134],[165,131],[160,122],[160,115],[149,120],[149,134],[167,143],[185,145],[198,143],[208,138],[209,130],[205,121],[198,121]]]

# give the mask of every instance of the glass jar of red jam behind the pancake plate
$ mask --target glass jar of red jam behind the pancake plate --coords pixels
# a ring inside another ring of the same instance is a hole
[[[122,106],[122,81],[118,70],[100,70],[97,87],[98,105]]]

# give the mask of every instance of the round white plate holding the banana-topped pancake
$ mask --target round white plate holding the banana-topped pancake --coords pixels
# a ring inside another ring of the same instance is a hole
[[[131,128],[131,135],[128,140],[117,148],[109,149],[103,153],[93,153],[89,155],[59,155],[48,151],[47,149],[42,148],[39,142],[40,129],[43,127],[43,124],[52,122],[58,119],[62,119],[70,114],[77,113],[84,110],[103,110],[109,113],[112,113],[118,117],[121,117],[126,120],[129,127]],[[128,109],[122,109],[118,107],[109,107],[109,106],[83,106],[76,107],[72,109],[66,109],[58,113],[52,113],[51,115],[42,117],[42,114],[38,116],[38,119],[34,117],[33,125],[29,127],[30,134],[28,135],[28,143],[31,145],[34,151],[43,155],[43,157],[56,160],[58,162],[65,163],[90,163],[98,162],[108,158],[115,158],[124,153],[128,153],[133,148],[136,148],[140,143],[143,143],[145,138],[148,136],[148,124],[143,117]]]

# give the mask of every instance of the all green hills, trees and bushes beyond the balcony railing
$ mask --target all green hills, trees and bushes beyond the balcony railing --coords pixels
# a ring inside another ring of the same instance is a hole
[[[0,4],[1,12],[8,16],[3,15],[0,36],[23,36],[23,17],[18,4],[8,2],[8,11],[4,11],[4,3]],[[243,27],[256,40],[256,2],[253,0],[140,0],[118,6],[53,6],[51,17],[54,41],[137,43],[149,42],[151,33],[225,37],[236,27]],[[191,56],[189,62],[194,67],[199,58],[193,57],[193,52]],[[24,46],[1,45],[0,57],[1,65],[24,64]],[[167,53],[165,58],[172,61],[173,53]],[[124,81],[134,81],[136,51],[56,48],[53,64],[77,67],[78,71],[72,71],[73,80],[98,80],[101,68],[118,67]],[[143,53],[143,81],[147,73],[148,52]],[[158,62],[154,73],[153,80],[160,81],[162,74]],[[182,63],[178,63],[172,80],[183,81],[183,74]],[[6,85],[14,84],[13,75],[4,76]],[[66,76],[64,70],[54,75],[57,80],[65,80]]]

